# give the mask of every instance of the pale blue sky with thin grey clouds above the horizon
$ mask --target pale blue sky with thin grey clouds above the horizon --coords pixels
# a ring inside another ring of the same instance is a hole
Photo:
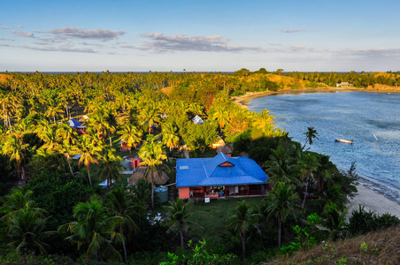
[[[398,0],[0,4],[0,72],[400,71]]]

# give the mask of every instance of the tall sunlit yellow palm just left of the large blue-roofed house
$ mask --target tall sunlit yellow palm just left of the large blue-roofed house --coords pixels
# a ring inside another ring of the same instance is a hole
[[[150,176],[151,182],[151,208],[154,209],[154,178],[156,173],[161,178],[162,170],[169,170],[163,160],[166,160],[165,151],[161,143],[155,142],[156,138],[149,134],[147,141],[139,151],[139,157],[142,159],[142,165],[147,166],[144,176]]]

